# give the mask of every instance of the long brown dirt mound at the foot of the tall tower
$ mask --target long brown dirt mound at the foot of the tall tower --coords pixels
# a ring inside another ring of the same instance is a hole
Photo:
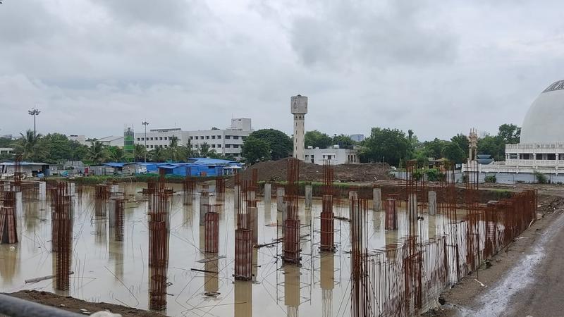
[[[287,180],[288,159],[256,163],[241,173],[241,180],[250,180],[253,168],[257,169],[259,181]],[[333,168],[335,180],[341,182],[375,182],[376,180],[393,179],[390,175],[390,166],[386,163],[341,164]],[[323,181],[323,166],[300,162],[300,180]],[[233,185],[233,179],[228,182],[228,185]]]

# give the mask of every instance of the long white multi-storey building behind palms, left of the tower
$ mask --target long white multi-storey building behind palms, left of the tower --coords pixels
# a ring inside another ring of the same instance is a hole
[[[240,159],[243,141],[252,132],[250,118],[231,119],[231,126],[225,129],[184,131],[180,128],[152,129],[147,132],[135,133],[135,144],[146,145],[150,151],[156,147],[168,147],[172,137],[178,138],[178,145],[199,149],[202,144],[209,145],[210,150],[225,156],[235,156]]]

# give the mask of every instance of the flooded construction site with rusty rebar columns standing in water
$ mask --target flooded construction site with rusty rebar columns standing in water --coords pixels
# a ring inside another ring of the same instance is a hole
[[[0,291],[168,316],[412,316],[537,218],[537,193],[484,198],[472,173],[386,186],[258,182],[0,187]],[[188,173],[190,175],[190,173]]]

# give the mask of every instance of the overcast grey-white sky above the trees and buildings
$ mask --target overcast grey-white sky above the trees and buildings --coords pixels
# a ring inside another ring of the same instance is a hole
[[[564,1],[3,0],[0,135],[522,124],[564,79]],[[350,4],[353,3],[353,4]]]

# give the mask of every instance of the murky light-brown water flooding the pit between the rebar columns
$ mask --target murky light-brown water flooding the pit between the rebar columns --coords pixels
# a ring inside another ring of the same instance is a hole
[[[140,194],[146,184],[121,184],[125,204],[124,241],[116,242],[108,220],[94,217],[94,190],[85,187],[74,199],[73,256],[71,289],[54,290],[54,280],[26,284],[25,280],[54,274],[51,253],[50,206],[45,201],[24,201],[18,218],[20,242],[0,245],[0,292],[45,290],[92,302],[109,302],[149,309],[149,269],[147,263],[147,200]],[[183,205],[181,186],[174,187],[171,209],[170,252],[166,309],[169,316],[348,316],[350,314],[350,243],[349,223],[336,220],[335,254],[320,254],[319,213],[321,201],[314,200],[311,210],[300,202],[302,220],[302,266],[284,266],[277,254],[281,244],[255,249],[255,279],[235,281],[233,193],[226,192],[220,215],[219,255],[205,259],[203,227],[199,225],[199,197],[191,206]],[[213,191],[213,187],[210,188]],[[281,235],[276,227],[281,213],[276,199],[270,206],[260,201],[259,244]],[[405,209],[405,206],[403,206]],[[348,200],[336,201],[336,216],[348,218]],[[383,249],[407,233],[405,210],[398,211],[399,230],[384,230],[384,213],[369,211],[364,225],[368,249]],[[441,215],[427,216],[419,222],[423,239],[443,231],[446,220]],[[277,232],[278,231],[278,232]],[[218,271],[219,274],[192,271]],[[204,293],[214,293],[207,296]]]

